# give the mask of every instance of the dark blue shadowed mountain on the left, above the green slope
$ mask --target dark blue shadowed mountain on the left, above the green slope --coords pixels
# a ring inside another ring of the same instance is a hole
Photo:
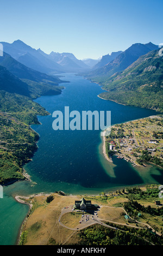
[[[60,94],[62,87],[59,84],[66,82],[54,75],[47,75],[28,68],[5,52],[0,58],[0,68],[0,94],[1,90],[30,98]]]

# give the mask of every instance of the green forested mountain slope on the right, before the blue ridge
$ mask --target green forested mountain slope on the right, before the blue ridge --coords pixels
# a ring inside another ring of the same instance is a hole
[[[158,52],[148,52],[123,72],[102,81],[103,89],[108,92],[99,96],[122,104],[163,111],[163,59]]]

